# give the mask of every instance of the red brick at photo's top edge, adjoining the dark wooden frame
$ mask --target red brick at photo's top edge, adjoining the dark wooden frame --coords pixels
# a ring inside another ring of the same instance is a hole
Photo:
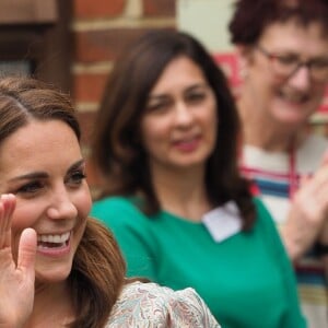
[[[99,19],[121,15],[126,0],[74,0],[73,11],[78,19]]]

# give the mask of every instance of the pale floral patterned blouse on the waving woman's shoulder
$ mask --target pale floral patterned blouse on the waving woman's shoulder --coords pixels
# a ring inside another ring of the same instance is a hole
[[[191,288],[173,291],[156,283],[127,284],[113,307],[106,328],[220,328]]]

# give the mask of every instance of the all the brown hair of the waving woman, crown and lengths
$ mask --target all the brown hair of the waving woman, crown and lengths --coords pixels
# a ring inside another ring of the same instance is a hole
[[[68,95],[34,79],[0,80],[0,144],[31,120],[52,119],[70,126],[80,140],[79,122]],[[75,308],[75,320],[70,327],[104,327],[125,283],[125,272],[114,236],[89,218],[69,276]]]

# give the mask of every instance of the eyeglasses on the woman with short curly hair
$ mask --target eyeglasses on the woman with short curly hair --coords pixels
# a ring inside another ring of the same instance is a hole
[[[295,74],[301,67],[306,67],[314,81],[328,81],[328,57],[314,58],[304,61],[300,60],[297,55],[278,55],[269,52],[261,46],[256,46],[256,49],[270,60],[274,73],[281,78],[289,79]]]

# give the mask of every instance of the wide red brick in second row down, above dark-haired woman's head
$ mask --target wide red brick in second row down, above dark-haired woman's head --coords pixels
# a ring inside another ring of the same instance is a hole
[[[115,60],[129,43],[149,30],[151,28],[112,28],[77,33],[75,60],[82,62]]]

